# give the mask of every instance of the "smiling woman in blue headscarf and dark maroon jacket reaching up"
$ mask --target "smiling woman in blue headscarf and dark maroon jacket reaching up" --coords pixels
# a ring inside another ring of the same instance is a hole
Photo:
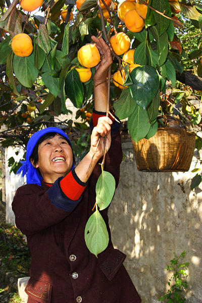
[[[13,201],[16,226],[27,236],[32,257],[26,286],[28,303],[141,301],[123,266],[126,256],[113,247],[107,209],[100,213],[110,235],[108,247],[96,258],[84,240],[85,225],[95,204],[105,136],[105,170],[113,174],[116,185],[122,161],[119,124],[105,117],[111,52],[102,38],[92,39],[102,60],[93,77],[90,150],[74,168],[71,144],[63,131],[47,128],[35,133],[28,142],[22,168],[27,184],[17,190]]]

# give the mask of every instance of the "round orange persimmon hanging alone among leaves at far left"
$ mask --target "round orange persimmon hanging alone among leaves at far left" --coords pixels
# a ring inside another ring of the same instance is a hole
[[[27,34],[17,34],[13,37],[11,47],[16,56],[28,57],[33,51],[32,40]]]

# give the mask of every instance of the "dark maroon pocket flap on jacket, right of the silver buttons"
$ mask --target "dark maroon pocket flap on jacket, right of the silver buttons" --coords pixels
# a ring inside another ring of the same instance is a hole
[[[99,263],[99,268],[112,280],[126,259],[126,255],[118,249],[110,250],[109,254]]]

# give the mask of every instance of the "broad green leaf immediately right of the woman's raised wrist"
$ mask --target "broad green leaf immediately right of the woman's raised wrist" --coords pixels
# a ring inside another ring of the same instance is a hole
[[[120,120],[129,117],[136,106],[137,104],[133,100],[129,89],[124,89],[120,98],[113,104],[116,116],[119,117]]]

